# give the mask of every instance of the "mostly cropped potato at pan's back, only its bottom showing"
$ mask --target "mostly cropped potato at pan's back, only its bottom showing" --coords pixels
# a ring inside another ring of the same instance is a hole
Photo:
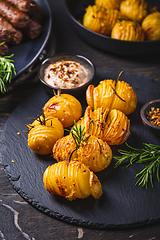
[[[122,0],[95,0],[98,7],[107,9],[118,9]]]

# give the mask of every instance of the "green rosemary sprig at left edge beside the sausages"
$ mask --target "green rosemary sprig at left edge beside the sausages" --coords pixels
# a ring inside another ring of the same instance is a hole
[[[4,44],[1,43],[0,46]],[[2,93],[7,92],[7,83],[11,83],[13,73],[16,75],[15,66],[13,64],[14,60],[11,59],[14,54],[10,56],[0,56],[0,91]]]

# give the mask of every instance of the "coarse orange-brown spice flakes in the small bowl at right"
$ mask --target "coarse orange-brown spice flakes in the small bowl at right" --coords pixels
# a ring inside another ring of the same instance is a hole
[[[146,115],[147,115],[148,121],[151,124],[160,127],[160,109],[159,108],[151,107],[151,109],[148,112],[146,112]]]

